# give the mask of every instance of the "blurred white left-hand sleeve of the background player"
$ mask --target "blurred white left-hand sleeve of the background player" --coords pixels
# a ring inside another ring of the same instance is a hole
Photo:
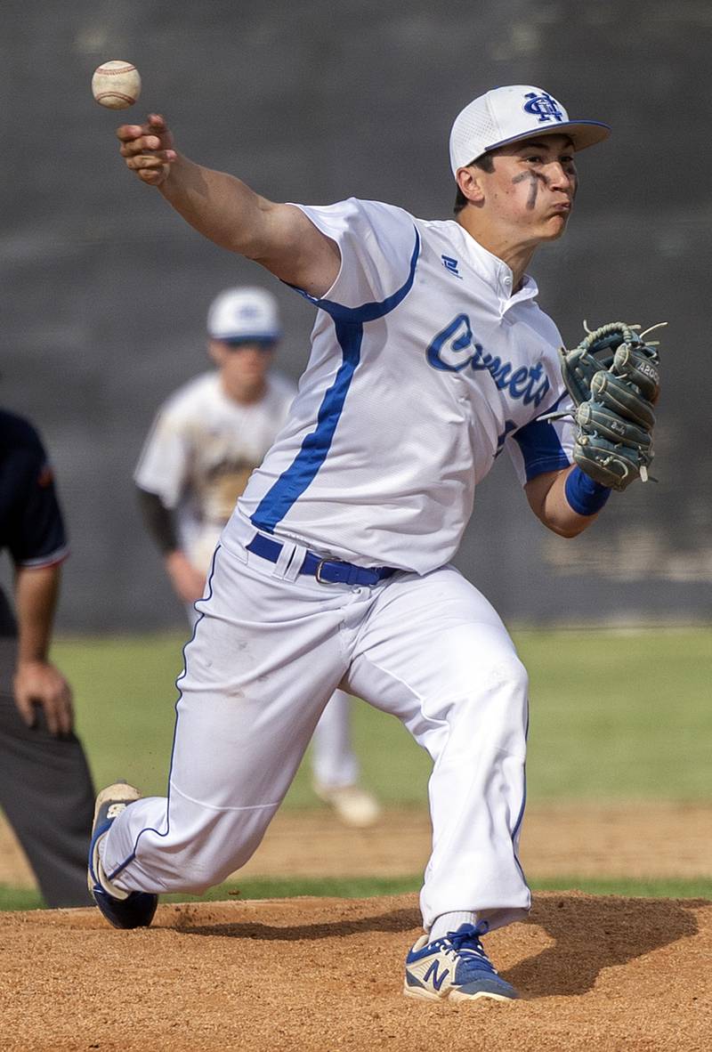
[[[134,481],[140,489],[159,497],[166,508],[175,508],[183,494],[189,464],[186,427],[180,413],[164,407],[141,450]]]

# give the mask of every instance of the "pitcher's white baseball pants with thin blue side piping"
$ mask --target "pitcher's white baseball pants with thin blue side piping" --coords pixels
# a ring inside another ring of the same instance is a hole
[[[298,545],[277,564],[247,551],[255,530],[243,525],[243,544],[216,553],[185,648],[168,797],[114,822],[109,879],[200,894],[244,865],[341,684],[432,757],[425,929],[460,910],[491,928],[522,917],[527,677],[494,609],[450,566],[373,587],[320,584],[297,574]]]

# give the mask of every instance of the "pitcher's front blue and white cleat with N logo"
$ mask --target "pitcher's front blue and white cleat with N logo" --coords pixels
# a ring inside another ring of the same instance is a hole
[[[403,992],[426,1000],[514,1000],[518,994],[494,969],[480,936],[484,928],[464,924],[443,938],[428,936],[413,946],[406,957]]]

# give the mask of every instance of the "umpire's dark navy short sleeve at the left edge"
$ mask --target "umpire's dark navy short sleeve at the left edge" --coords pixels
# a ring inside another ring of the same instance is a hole
[[[53,566],[63,562],[68,554],[53,470],[36,432],[35,439],[32,447],[16,453],[18,499],[7,534],[7,548],[17,566]]]

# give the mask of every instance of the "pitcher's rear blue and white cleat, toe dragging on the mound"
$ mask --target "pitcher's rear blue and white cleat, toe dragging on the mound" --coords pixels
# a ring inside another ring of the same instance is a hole
[[[122,891],[115,887],[101,865],[99,844],[122,811],[141,798],[126,782],[115,782],[97,796],[89,845],[88,885],[94,901],[115,928],[147,928],[154,919],[158,895],[147,891]]]

